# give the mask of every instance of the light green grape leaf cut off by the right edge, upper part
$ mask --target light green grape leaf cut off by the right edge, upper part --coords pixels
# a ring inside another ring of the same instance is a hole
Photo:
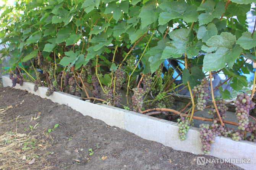
[[[253,34],[253,37],[251,37],[250,32],[243,32],[242,36],[237,40],[237,44],[239,44],[246,50],[250,50],[251,48],[256,46],[256,34]]]

